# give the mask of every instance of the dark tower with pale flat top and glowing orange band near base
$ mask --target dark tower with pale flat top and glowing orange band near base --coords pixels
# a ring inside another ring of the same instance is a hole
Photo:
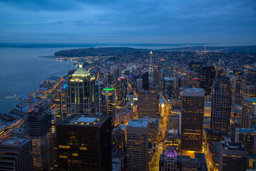
[[[183,150],[202,150],[204,104],[204,89],[182,89],[181,149]]]

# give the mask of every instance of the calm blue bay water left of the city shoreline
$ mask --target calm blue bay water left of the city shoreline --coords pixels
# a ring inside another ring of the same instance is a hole
[[[60,48],[0,48],[0,113],[11,111],[19,103],[6,96],[25,96],[39,88],[49,76],[63,77],[68,70],[76,68],[72,61],[39,58],[52,56],[56,51],[75,47]]]

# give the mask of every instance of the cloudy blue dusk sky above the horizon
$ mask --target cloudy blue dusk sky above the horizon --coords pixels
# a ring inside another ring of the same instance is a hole
[[[0,43],[255,43],[255,0],[0,0]]]

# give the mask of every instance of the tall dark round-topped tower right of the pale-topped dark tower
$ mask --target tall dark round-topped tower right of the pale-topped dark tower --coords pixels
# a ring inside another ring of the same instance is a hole
[[[229,79],[224,75],[217,76],[212,87],[212,115],[210,127],[227,135],[230,126],[231,92]]]

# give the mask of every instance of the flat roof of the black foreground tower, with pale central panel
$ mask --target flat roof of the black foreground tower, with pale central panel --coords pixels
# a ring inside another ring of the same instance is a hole
[[[80,125],[84,127],[100,127],[110,116],[71,115],[59,125]]]

